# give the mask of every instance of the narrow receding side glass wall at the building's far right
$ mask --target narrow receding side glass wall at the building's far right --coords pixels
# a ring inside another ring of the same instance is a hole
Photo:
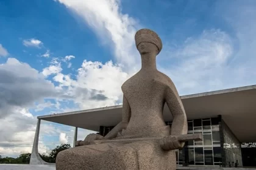
[[[238,162],[239,166],[243,166],[241,144],[233,135],[227,124],[222,120],[222,131],[224,138],[224,155],[226,166],[234,166]]]

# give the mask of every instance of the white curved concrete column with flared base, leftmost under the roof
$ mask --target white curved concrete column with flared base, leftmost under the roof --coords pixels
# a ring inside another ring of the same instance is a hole
[[[41,120],[38,119],[37,120],[37,129],[35,130],[34,144],[33,144],[29,164],[32,164],[32,165],[49,165],[51,163],[48,163],[48,162],[44,161],[40,157],[39,152],[38,152],[38,140],[39,140],[40,124],[41,124]]]

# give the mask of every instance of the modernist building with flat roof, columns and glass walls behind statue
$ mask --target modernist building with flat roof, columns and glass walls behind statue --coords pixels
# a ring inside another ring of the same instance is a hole
[[[256,85],[185,95],[181,99],[187,113],[188,133],[202,133],[203,139],[189,141],[176,151],[177,165],[229,166],[238,161],[243,166],[241,143],[256,141]],[[37,156],[40,120],[76,127],[76,140],[77,127],[106,135],[121,121],[121,112],[119,105],[38,117],[31,163],[41,161]],[[171,126],[168,107],[163,115]]]

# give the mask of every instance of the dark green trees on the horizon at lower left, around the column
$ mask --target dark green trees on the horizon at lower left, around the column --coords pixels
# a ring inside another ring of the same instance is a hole
[[[56,148],[52,149],[49,155],[40,154],[40,157],[46,162],[55,163],[57,154],[60,151],[63,151],[68,148],[71,148],[70,144],[61,144],[60,146],[56,146]],[[17,158],[2,157],[0,155],[0,163],[28,164],[30,161],[30,156],[31,156],[30,153],[21,154]]]

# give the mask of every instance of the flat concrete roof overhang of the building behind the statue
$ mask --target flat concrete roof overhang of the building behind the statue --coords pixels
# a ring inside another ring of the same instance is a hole
[[[180,97],[188,120],[218,117],[230,127],[241,142],[256,141],[256,85],[205,92]],[[63,114],[39,116],[41,120],[65,124],[91,131],[99,126],[115,126],[122,118],[122,105],[79,110]],[[165,121],[172,121],[168,107],[163,110]]]

